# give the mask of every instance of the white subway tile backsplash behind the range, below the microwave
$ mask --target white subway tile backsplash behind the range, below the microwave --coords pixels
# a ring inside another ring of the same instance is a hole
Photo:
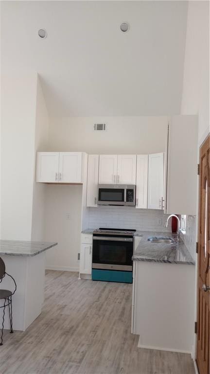
[[[153,209],[134,207],[100,206],[89,208],[89,228],[110,227],[136,229],[140,231],[171,232],[171,222],[167,228],[164,222],[167,215]]]

